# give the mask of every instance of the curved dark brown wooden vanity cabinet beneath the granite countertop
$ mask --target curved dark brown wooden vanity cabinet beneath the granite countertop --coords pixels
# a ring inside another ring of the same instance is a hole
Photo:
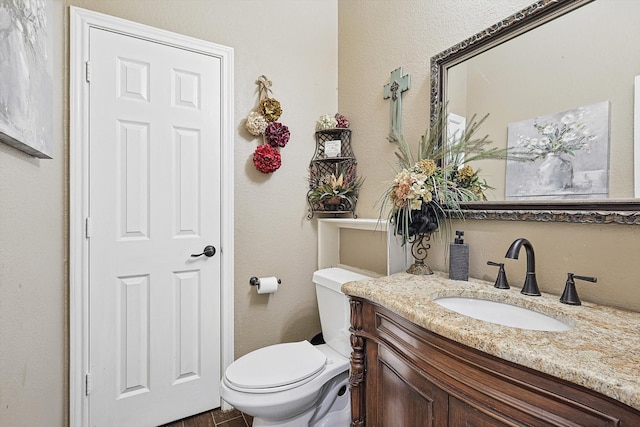
[[[640,411],[351,297],[353,427],[640,426]]]

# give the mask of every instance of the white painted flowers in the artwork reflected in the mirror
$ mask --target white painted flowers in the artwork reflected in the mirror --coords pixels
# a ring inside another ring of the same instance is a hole
[[[567,113],[560,122],[534,122],[533,127],[538,131],[539,138],[518,135],[516,145],[525,152],[544,158],[549,154],[575,156],[576,151],[589,147],[589,143],[596,139],[582,120],[583,109]]]

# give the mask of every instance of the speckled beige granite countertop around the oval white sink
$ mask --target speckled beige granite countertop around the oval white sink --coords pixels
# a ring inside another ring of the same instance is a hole
[[[342,285],[405,319],[461,344],[579,384],[640,410],[640,313],[582,302],[562,304],[559,296],[522,295],[493,283],[449,280],[444,273],[397,273]],[[462,296],[530,308],[574,325],[568,331],[533,331],[476,320],[433,299]]]

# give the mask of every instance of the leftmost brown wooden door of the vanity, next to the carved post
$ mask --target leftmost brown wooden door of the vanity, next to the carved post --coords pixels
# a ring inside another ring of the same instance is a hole
[[[426,427],[447,423],[447,394],[428,381],[415,367],[385,347],[376,360],[379,381],[374,408],[377,423],[367,426]]]

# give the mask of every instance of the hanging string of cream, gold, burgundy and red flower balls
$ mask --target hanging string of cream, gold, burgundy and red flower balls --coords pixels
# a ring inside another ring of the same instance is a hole
[[[277,120],[282,115],[280,102],[271,96],[271,81],[264,75],[258,77],[258,111],[247,116],[245,127],[251,135],[263,135],[263,143],[253,153],[253,164],[262,173],[272,173],[282,165],[279,148],[289,142],[291,133]]]

